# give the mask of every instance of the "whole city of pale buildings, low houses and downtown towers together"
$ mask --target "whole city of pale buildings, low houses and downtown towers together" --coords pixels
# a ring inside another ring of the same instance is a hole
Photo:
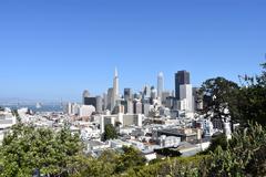
[[[125,87],[121,94],[115,69],[113,87],[102,96],[92,96],[85,90],[82,103],[68,103],[62,113],[32,113],[20,108],[17,117],[22,123],[55,131],[68,125],[73,134],[80,135],[84,152],[94,157],[106,149],[119,150],[123,146],[134,146],[147,160],[155,159],[156,150],[164,148],[192,156],[208,147],[215,132],[223,131],[196,114],[196,110],[203,107],[197,91],[191,84],[190,72],[178,71],[175,73],[175,91],[164,88],[164,74],[160,72],[156,87],[146,84],[137,93]],[[7,122],[9,115],[14,117],[10,110],[1,111],[0,121]],[[14,121],[2,129],[13,124]],[[106,135],[110,125],[115,136]]]

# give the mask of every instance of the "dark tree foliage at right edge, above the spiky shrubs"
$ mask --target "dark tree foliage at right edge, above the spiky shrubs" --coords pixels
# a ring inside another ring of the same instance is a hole
[[[231,117],[232,123],[242,126],[248,121],[266,125],[266,63],[262,66],[262,74],[242,77],[241,86],[224,77],[205,81],[198,92],[204,102],[200,114],[211,119]]]

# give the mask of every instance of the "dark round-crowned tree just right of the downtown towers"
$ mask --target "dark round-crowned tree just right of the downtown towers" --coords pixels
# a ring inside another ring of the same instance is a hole
[[[235,82],[224,77],[215,77],[205,81],[198,92],[198,97],[203,102],[203,110],[200,114],[207,118],[224,121],[231,117],[231,121],[238,122],[236,113],[238,103],[238,85]]]

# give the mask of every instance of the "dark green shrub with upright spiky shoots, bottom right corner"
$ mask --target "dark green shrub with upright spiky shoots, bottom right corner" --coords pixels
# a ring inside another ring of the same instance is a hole
[[[228,148],[211,153],[208,176],[265,176],[266,131],[258,124],[234,133]]]

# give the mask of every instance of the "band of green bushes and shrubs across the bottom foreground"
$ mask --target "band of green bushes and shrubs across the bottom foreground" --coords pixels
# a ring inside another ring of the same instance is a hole
[[[19,131],[19,132],[18,132]],[[62,140],[64,139],[64,140]],[[225,149],[194,157],[173,157],[146,162],[132,147],[123,153],[104,152],[99,158],[81,153],[81,143],[68,129],[52,134],[49,129],[14,126],[1,147],[0,176],[31,176],[34,169],[50,176],[265,176],[266,129],[248,124],[234,133]]]

